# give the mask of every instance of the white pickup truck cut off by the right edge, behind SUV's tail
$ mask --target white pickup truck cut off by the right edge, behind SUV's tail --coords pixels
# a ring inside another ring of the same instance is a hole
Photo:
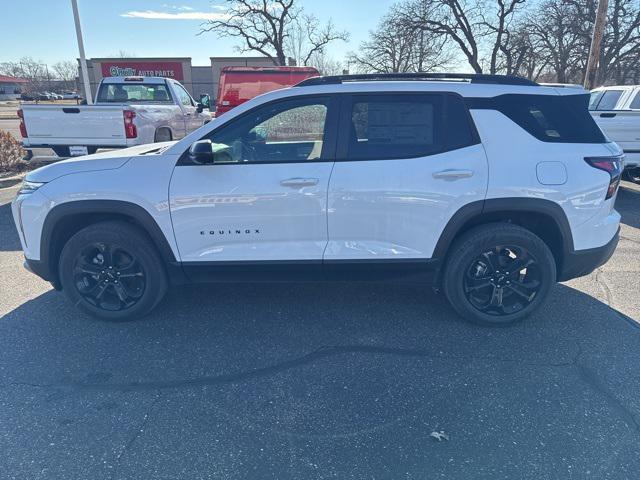
[[[627,169],[640,168],[640,86],[600,87],[591,91],[591,116],[625,155]]]

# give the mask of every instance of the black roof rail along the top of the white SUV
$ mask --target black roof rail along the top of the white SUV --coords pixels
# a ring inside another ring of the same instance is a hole
[[[326,77],[310,77],[298,83],[296,87],[312,85],[336,85],[344,82],[375,82],[402,80],[468,80],[470,83],[484,83],[495,85],[521,85],[528,87],[539,86],[533,80],[514,75],[488,75],[483,73],[363,73],[355,75],[329,75]]]

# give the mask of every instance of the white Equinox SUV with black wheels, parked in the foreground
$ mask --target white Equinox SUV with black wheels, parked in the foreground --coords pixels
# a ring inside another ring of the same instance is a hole
[[[506,324],[612,255],[622,151],[581,90],[315,77],[179,142],[58,162],[13,202],[26,266],[98,317],[169,284],[394,280]]]

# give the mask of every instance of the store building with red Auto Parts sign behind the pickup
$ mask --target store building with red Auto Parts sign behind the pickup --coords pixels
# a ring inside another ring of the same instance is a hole
[[[193,66],[189,57],[87,59],[94,98],[98,84],[104,77],[153,76],[179,81],[196,99],[208,93],[214,100],[218,94],[220,70],[226,66],[269,67],[273,66],[273,62],[267,57],[211,57],[210,65]],[[78,83],[83,85],[82,81]]]

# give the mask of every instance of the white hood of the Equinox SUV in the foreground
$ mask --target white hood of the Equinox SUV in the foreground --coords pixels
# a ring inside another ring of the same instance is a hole
[[[83,157],[74,157],[67,160],[51,163],[40,167],[27,175],[30,182],[50,182],[56,178],[72,173],[93,172],[97,170],[114,170],[122,167],[132,157],[157,153],[175,142],[148,143],[137,145],[122,150],[110,150],[108,152],[94,153]]]

